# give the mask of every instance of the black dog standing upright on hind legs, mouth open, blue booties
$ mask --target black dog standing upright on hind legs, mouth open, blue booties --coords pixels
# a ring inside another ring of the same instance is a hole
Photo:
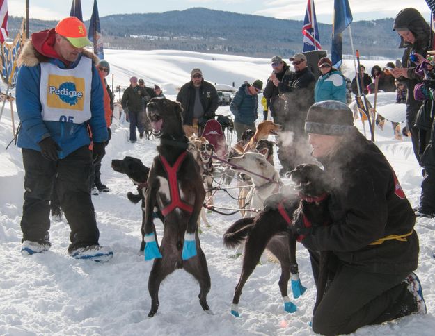
[[[148,103],[152,133],[160,140],[159,153],[152,162],[145,194],[145,260],[154,259],[148,278],[151,296],[149,317],[159,308],[161,281],[175,269],[192,274],[200,285],[199,301],[205,312],[211,281],[207,261],[200,246],[197,221],[205,198],[203,179],[182,128],[180,103],[153,98]],[[152,209],[155,205],[164,216],[164,234],[160,248],[153,231]]]

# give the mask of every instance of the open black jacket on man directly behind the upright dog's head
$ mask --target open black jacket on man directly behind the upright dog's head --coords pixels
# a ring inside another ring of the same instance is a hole
[[[219,98],[216,88],[209,82],[204,81],[199,88],[200,102],[204,108],[204,116],[198,121],[199,124],[205,124],[209,119],[214,119],[214,112],[219,106]],[[193,124],[193,108],[195,106],[195,87],[192,81],[184,84],[177,94],[177,101],[180,101],[183,108],[183,124]]]

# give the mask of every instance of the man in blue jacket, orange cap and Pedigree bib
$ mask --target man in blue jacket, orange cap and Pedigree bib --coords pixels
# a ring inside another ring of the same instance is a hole
[[[68,253],[77,259],[107,261],[108,246],[99,246],[99,230],[90,199],[93,158],[104,155],[108,133],[103,86],[86,28],[67,17],[56,28],[33,33],[18,65],[17,110],[22,124],[24,205],[22,254],[47,251],[49,199],[56,192],[71,228]],[[93,152],[89,150],[90,133]]]

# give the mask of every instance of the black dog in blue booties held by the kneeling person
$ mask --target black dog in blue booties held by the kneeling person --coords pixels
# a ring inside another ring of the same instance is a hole
[[[287,296],[287,285],[291,278],[294,298],[306,291],[299,280],[296,262],[296,240],[304,230],[329,224],[328,198],[323,171],[316,165],[299,165],[291,171],[295,183],[292,194],[273,194],[264,201],[264,210],[256,217],[236,221],[223,235],[223,243],[234,248],[245,242],[242,274],[235,288],[231,314],[239,317],[239,299],[242,289],[257,266],[264,249],[269,250],[279,260],[281,276],[278,281],[286,312],[295,312],[296,305]],[[320,303],[326,287],[329,252],[320,253],[320,271],[317,282],[315,308]]]

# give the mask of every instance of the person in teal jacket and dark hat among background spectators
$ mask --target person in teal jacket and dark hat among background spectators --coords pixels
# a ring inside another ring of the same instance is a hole
[[[341,101],[347,103],[346,81],[340,71],[332,67],[331,60],[323,57],[318,63],[322,75],[314,88],[314,101]]]

